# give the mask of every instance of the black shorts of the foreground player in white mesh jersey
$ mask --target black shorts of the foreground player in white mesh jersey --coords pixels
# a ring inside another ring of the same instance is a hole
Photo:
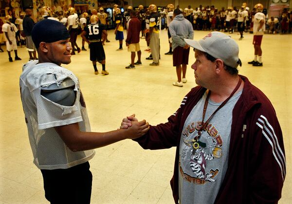
[[[90,204],[92,174],[89,162],[67,169],[41,169],[45,197],[51,204]]]

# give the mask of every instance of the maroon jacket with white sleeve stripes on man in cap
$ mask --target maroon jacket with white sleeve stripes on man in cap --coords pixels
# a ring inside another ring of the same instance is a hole
[[[240,75],[244,88],[233,109],[228,168],[215,204],[274,204],[281,198],[286,175],[283,137],[269,99]],[[168,122],[150,126],[135,139],[145,149],[177,147],[170,181],[175,203],[179,201],[179,146],[184,122],[205,88],[193,88]]]

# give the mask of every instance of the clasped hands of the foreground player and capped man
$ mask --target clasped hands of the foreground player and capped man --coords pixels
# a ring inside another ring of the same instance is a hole
[[[127,116],[123,119],[120,130],[127,131],[128,139],[136,139],[147,133],[149,130],[149,123],[146,120],[138,121],[135,114]]]

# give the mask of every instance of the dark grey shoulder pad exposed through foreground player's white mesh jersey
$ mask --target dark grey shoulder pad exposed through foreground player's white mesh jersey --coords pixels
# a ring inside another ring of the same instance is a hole
[[[75,83],[67,78],[59,85],[51,84],[41,88],[41,95],[62,106],[73,106],[76,93],[74,92]]]

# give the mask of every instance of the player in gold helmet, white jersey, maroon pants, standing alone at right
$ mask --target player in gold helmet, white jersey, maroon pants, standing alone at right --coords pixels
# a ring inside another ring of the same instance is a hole
[[[261,41],[263,39],[264,32],[266,31],[266,16],[262,13],[264,6],[260,3],[256,4],[255,7],[256,14],[254,16],[254,48],[255,48],[255,58],[253,61],[248,62],[256,67],[262,67],[262,50]]]

